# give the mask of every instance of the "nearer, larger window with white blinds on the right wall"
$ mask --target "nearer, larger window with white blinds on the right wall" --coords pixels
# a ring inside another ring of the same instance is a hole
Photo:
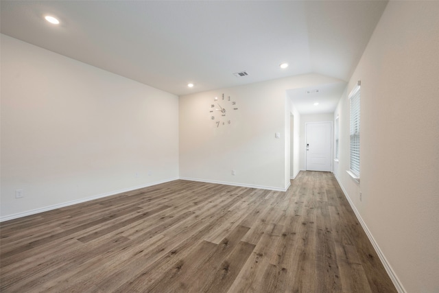
[[[351,124],[349,136],[351,139],[351,172],[359,178],[359,134],[360,134],[360,117],[359,117],[359,99],[360,99],[360,82],[349,95],[351,104]]]

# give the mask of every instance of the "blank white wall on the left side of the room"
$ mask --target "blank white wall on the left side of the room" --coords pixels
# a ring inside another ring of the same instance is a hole
[[[2,220],[176,178],[176,95],[1,35]]]

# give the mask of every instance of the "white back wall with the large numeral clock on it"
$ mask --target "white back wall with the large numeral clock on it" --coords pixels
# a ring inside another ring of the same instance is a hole
[[[180,177],[287,188],[292,112],[285,91],[334,81],[317,74],[299,75],[180,97]],[[209,107],[222,93],[236,100],[239,110],[231,113],[230,125],[217,128]],[[280,139],[274,137],[276,132]]]

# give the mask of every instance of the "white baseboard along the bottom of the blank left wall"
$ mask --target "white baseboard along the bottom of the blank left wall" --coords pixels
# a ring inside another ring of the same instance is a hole
[[[14,220],[17,218],[23,218],[27,215],[35,215],[36,213],[43,213],[44,211],[51,211],[53,209],[60,209],[62,207],[69,207],[73,204],[80,204],[82,202],[88,202],[90,200],[97,200],[98,198],[105,198],[106,196],[115,196],[116,194],[121,194],[123,192],[127,192],[127,191],[132,191],[132,190],[136,190],[136,189],[141,189],[141,188],[145,188],[145,187],[150,187],[153,185],[158,185],[161,183],[167,183],[170,181],[174,181],[174,180],[178,180],[178,177],[176,178],[168,178],[165,180],[161,180],[161,181],[156,181],[153,183],[147,183],[144,185],[137,185],[137,186],[133,186],[133,187],[128,187],[128,188],[124,188],[124,189],[119,189],[119,190],[115,190],[115,191],[110,191],[110,192],[106,192],[105,194],[98,194],[96,196],[91,196],[88,198],[80,198],[78,200],[71,200],[69,202],[62,202],[60,204],[53,204],[50,205],[48,207],[41,207],[39,209],[32,209],[30,211],[23,211],[21,213],[14,213],[12,215],[5,215],[3,217],[0,217],[0,222],[4,222],[4,221],[9,221],[9,220]]]

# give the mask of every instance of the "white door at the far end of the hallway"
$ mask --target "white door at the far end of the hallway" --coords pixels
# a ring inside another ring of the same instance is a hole
[[[332,123],[305,124],[305,165],[310,171],[332,171]]]

